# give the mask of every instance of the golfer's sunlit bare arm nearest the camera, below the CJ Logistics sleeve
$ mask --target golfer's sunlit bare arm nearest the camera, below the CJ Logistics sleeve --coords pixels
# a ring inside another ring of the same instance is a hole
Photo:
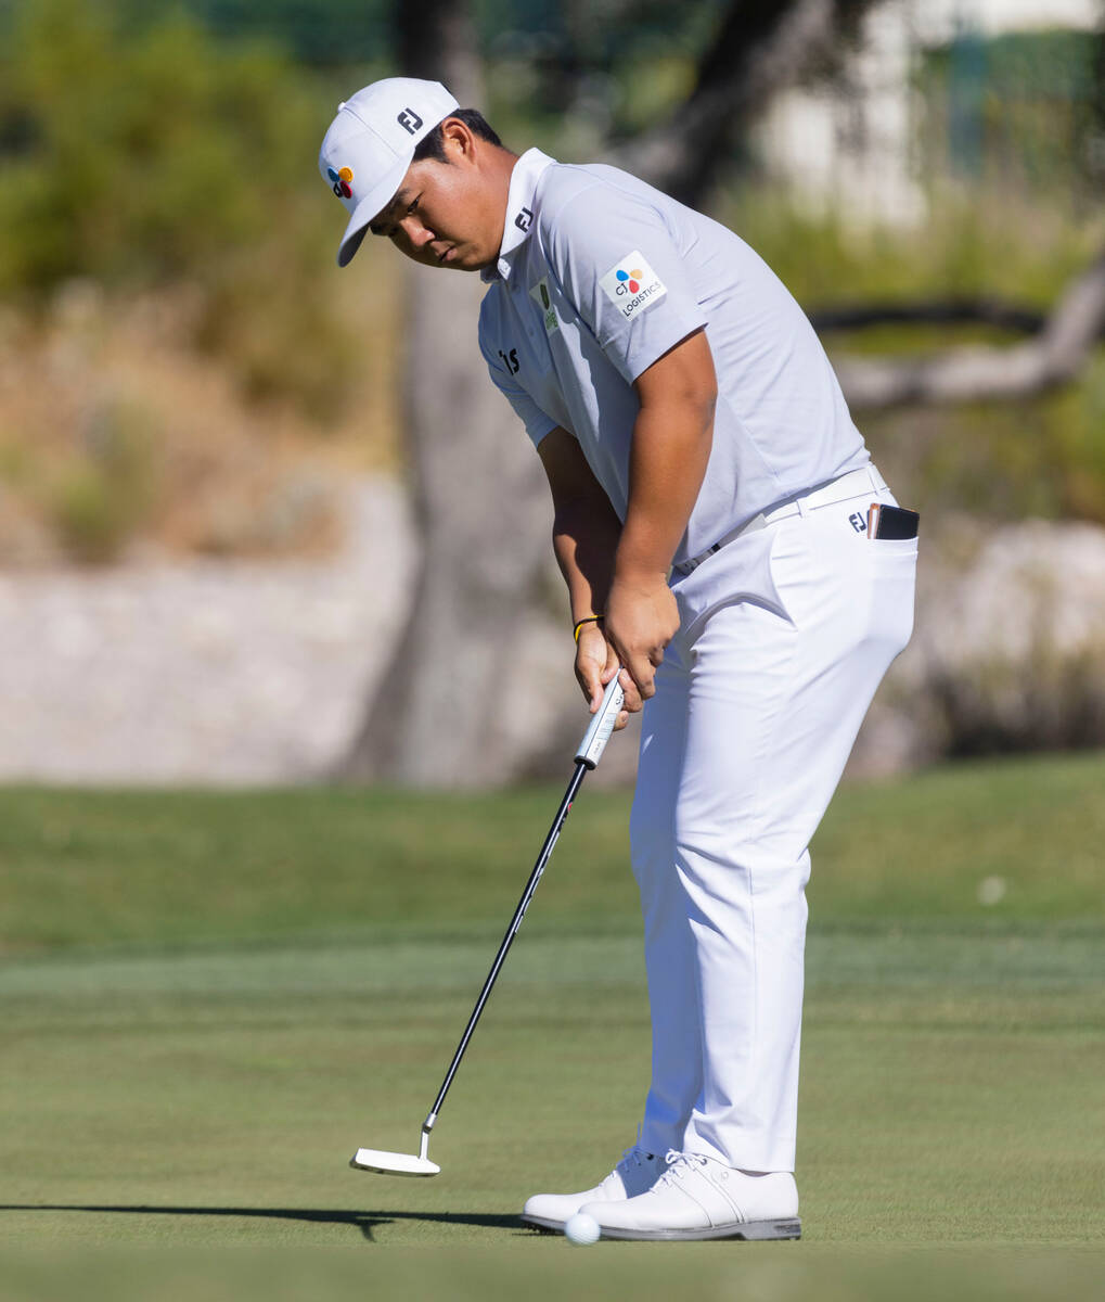
[[[668,587],[705,475],[713,441],[717,378],[705,333],[695,331],[634,381],[640,400],[633,432],[625,526],[614,555],[605,635],[642,698],[679,617]],[[578,616],[577,616],[578,617]],[[609,682],[612,673],[605,673]]]

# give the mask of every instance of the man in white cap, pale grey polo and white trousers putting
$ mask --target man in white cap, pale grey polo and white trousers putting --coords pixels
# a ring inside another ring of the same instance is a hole
[[[794,299],[708,217],[518,158],[405,78],[340,107],[320,169],[350,215],[340,264],[371,232],[488,283],[480,346],[548,475],[577,677],[592,712],[616,673],[644,703],[644,1118],[601,1184],[523,1216],[797,1237],[807,846],[912,629],[916,517]]]

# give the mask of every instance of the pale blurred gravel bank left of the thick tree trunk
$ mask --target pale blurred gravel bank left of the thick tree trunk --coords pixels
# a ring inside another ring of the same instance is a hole
[[[349,745],[402,626],[401,488],[350,488],[319,561],[129,562],[0,575],[0,779],[315,780]]]

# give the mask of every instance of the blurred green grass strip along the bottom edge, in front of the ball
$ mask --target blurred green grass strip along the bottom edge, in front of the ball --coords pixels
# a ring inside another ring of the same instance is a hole
[[[998,1246],[604,1243],[561,1240],[388,1253],[249,1246],[138,1253],[22,1250],[0,1267],[5,1302],[302,1302],[303,1298],[683,1298],[702,1302],[1035,1302],[1098,1298],[1105,1253]]]

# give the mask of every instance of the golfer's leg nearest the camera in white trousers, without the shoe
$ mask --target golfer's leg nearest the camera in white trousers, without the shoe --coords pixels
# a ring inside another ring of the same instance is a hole
[[[914,556],[885,548],[787,522],[780,604],[721,605],[694,646],[675,852],[703,1085],[682,1147],[744,1170],[794,1169],[807,848],[912,625]]]

